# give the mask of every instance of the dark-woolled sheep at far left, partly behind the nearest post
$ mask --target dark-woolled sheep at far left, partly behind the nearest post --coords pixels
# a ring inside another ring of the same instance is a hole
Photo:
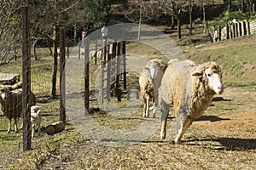
[[[9,127],[7,133],[11,131],[12,118],[15,120],[15,133],[18,133],[17,123],[22,114],[22,90],[16,89],[10,91],[9,88],[0,89],[0,105],[3,111],[3,116],[9,119]],[[31,104],[36,104],[35,94],[31,93]]]

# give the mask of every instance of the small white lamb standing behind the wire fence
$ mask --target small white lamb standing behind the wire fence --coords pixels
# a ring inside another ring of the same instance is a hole
[[[31,107],[31,123],[32,123],[32,138],[34,137],[35,127],[38,127],[38,136],[41,133],[41,109],[38,105],[32,105]]]

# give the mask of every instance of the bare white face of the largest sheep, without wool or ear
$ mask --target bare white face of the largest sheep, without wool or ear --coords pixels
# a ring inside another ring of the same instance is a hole
[[[204,71],[205,76],[208,80],[208,86],[211,88],[216,94],[222,94],[224,92],[224,85],[222,82],[222,74],[220,71],[216,71],[207,68]]]

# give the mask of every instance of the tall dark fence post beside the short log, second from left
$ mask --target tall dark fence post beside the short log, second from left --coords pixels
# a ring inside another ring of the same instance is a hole
[[[65,28],[60,29],[60,121],[66,123]]]

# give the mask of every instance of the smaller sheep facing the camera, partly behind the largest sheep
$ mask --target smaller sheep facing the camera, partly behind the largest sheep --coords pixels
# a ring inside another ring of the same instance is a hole
[[[143,69],[139,77],[139,85],[143,99],[143,117],[148,117],[148,111],[153,110],[152,117],[155,117],[155,105],[158,102],[158,88],[166,70],[166,63],[160,59],[151,59]],[[149,99],[152,99],[154,105],[149,108]]]

